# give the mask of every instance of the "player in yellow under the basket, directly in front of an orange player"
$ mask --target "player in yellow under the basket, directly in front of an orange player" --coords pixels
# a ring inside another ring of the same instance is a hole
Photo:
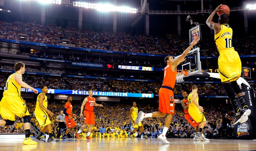
[[[199,123],[199,130],[195,133],[195,137],[201,141],[205,141],[205,138],[201,135],[203,127],[206,124],[205,116],[203,115],[203,107],[198,104],[197,86],[192,86],[192,92],[188,95],[188,112],[189,115]]]

